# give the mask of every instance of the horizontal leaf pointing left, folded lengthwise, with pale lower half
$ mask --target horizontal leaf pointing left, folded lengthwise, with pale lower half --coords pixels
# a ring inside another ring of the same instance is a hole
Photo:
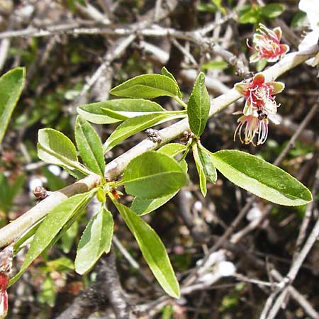
[[[91,123],[110,124],[147,113],[165,111],[159,104],[144,99],[116,99],[78,106],[80,116]]]

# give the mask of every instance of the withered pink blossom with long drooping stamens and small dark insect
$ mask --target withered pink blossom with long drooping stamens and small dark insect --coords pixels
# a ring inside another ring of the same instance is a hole
[[[256,74],[250,82],[240,82],[235,84],[235,89],[245,96],[246,102],[244,115],[238,119],[238,126],[235,130],[234,140],[238,133],[240,141],[245,144],[261,145],[268,136],[269,119],[275,124],[279,124],[276,119],[277,108],[274,94],[280,93],[284,89],[281,82],[265,82],[262,73]],[[245,129],[242,128],[245,126]],[[254,142],[257,140],[257,142]]]

